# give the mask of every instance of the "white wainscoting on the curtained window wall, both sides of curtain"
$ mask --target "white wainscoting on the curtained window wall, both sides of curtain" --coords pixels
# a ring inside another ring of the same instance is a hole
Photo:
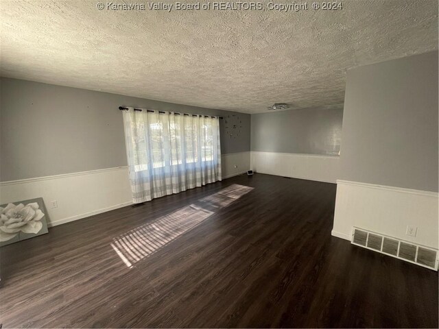
[[[235,165],[237,168],[235,168]],[[250,169],[250,152],[222,155],[222,178]],[[0,182],[0,204],[43,197],[49,226],[132,204],[128,167]],[[51,208],[51,201],[58,208]]]

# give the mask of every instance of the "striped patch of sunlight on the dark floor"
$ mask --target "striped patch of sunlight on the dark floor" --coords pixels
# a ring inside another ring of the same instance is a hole
[[[134,228],[112,239],[111,247],[128,267],[146,258],[161,247],[191,230],[215,212],[209,208],[224,208],[252,191],[252,187],[233,184],[185,206],[152,223]]]

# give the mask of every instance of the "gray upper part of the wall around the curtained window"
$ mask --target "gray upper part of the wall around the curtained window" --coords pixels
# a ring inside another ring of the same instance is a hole
[[[126,166],[122,113],[134,106],[226,116],[197,108],[110,93],[1,78],[0,181]],[[250,151],[250,114],[231,139],[220,121],[222,153]]]

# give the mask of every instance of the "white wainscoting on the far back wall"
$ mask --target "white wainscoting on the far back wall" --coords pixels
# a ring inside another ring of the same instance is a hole
[[[339,156],[251,151],[251,166],[257,173],[329,183],[337,180],[339,159]]]

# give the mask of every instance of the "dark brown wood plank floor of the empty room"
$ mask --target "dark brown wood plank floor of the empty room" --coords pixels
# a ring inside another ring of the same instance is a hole
[[[331,236],[335,187],[239,176],[1,247],[0,322],[438,328],[438,273]]]

